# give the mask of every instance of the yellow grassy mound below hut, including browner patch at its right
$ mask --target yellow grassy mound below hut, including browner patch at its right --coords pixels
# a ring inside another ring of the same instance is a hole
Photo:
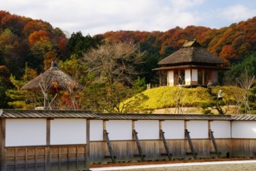
[[[237,101],[237,95],[244,93],[242,89],[235,86],[215,86],[212,87],[213,93],[218,93],[218,90],[224,91],[224,101],[227,104],[233,104]],[[141,98],[141,97],[144,98]],[[145,90],[127,101],[136,101],[135,105],[131,105],[126,111],[142,112],[147,110],[157,110],[169,107],[176,107],[178,98],[181,107],[201,107],[204,103],[209,103],[212,98],[206,88],[197,87],[192,89],[181,87],[162,86],[154,89]],[[125,103],[126,103],[125,102]]]

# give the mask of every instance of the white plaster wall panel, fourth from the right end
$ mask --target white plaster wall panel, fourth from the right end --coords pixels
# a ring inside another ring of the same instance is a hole
[[[166,139],[184,139],[184,121],[162,121]]]

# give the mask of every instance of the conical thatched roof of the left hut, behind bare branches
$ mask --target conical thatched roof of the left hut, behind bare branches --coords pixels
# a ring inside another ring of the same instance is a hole
[[[26,83],[22,90],[41,90],[41,86],[47,86],[47,89],[63,90],[67,88],[82,89],[78,81],[74,80],[69,74],[59,70],[56,62],[52,64],[52,67],[40,74],[35,79]]]

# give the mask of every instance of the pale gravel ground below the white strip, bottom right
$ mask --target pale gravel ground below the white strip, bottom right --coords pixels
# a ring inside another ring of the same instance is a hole
[[[167,171],[167,170],[197,170],[197,171],[252,171],[256,170],[256,163],[226,163],[226,164],[214,164],[214,165],[198,165],[198,166],[171,166],[171,167],[160,167],[151,169],[126,169],[126,170],[140,170],[140,171]]]

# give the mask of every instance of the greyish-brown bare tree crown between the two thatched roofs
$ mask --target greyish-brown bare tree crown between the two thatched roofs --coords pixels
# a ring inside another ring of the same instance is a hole
[[[97,80],[133,85],[139,74],[136,65],[142,64],[144,55],[133,43],[106,43],[84,54],[83,62],[86,73],[94,74]]]

